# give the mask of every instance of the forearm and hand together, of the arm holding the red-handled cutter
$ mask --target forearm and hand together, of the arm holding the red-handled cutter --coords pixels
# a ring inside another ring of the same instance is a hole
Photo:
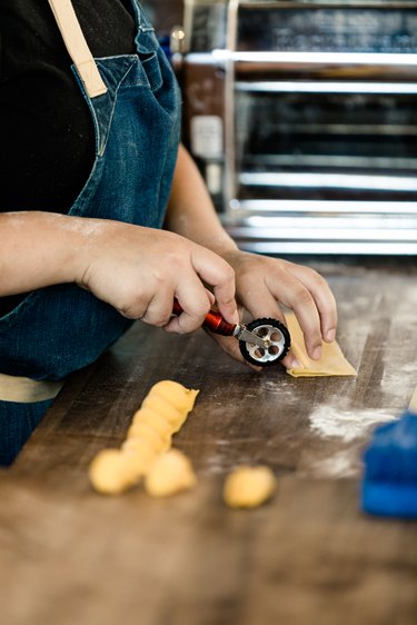
[[[209,310],[206,285],[230,323],[234,272],[216,254],[172,232],[52,215],[0,215],[0,297],[76,282],[130,319],[193,331]],[[171,321],[177,297],[183,312]]]

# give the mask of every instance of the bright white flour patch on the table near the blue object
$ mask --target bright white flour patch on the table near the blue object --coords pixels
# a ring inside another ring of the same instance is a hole
[[[325,438],[341,438],[346,443],[366,436],[378,424],[395,419],[397,416],[381,409],[341,410],[334,406],[319,406],[309,417],[314,431]]]

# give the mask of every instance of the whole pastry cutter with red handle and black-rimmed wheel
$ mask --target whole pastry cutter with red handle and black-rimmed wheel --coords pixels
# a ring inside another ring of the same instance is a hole
[[[173,300],[173,315],[180,315],[182,308]],[[258,367],[275,365],[288,354],[291,343],[289,331],[278,319],[255,319],[248,325],[229,324],[217,310],[206,315],[202,327],[221,336],[235,336],[239,340],[240,353],[245,360]]]

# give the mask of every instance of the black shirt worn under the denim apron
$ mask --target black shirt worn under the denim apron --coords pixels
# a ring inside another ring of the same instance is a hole
[[[130,0],[73,0],[93,57],[135,52]],[[0,211],[67,212],[95,157],[90,112],[47,0],[0,2]]]

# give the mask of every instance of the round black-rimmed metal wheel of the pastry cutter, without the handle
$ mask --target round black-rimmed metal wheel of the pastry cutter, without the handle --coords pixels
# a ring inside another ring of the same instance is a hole
[[[281,321],[277,319],[255,319],[246,327],[267,341],[265,349],[251,343],[239,341],[241,355],[248,363],[258,367],[268,367],[279,363],[288,354],[291,338]]]

